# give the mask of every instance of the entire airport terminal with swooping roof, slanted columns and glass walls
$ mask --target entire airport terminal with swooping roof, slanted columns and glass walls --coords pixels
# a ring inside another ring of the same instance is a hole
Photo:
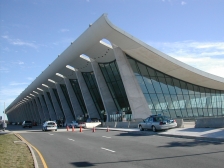
[[[224,116],[224,78],[182,63],[104,14],[6,109],[10,122]]]

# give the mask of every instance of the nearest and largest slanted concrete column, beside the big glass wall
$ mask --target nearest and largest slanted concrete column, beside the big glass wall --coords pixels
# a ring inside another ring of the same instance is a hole
[[[132,111],[132,118],[146,118],[151,111],[124,52],[113,45],[114,55]]]

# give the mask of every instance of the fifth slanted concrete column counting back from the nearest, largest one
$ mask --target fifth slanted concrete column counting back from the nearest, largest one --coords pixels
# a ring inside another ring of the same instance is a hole
[[[64,96],[64,93],[61,89],[61,86],[60,84],[58,83],[55,83],[55,86],[57,88],[57,91],[58,91],[58,96],[59,96],[59,99],[61,101],[61,105],[62,105],[62,109],[63,109],[63,112],[64,112],[64,115],[65,115],[65,122],[66,123],[70,123],[74,120],[74,117],[72,115],[72,112],[68,106],[68,103],[66,101],[66,98]]]

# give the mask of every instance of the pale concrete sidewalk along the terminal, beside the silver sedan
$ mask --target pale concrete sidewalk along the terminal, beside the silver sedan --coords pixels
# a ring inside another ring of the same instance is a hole
[[[96,129],[104,129],[102,127],[96,127]],[[124,132],[135,132],[139,129],[137,128],[109,128],[110,131],[124,131]],[[151,130],[143,131],[154,133]],[[224,128],[174,128],[167,131],[158,131],[154,133],[159,136],[171,136],[179,138],[190,138],[190,139],[199,139],[207,141],[219,141],[224,142]]]

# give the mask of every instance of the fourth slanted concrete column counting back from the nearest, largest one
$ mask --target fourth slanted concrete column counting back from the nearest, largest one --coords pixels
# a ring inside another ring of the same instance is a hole
[[[73,111],[75,113],[74,114],[75,117],[77,118],[78,116],[82,116],[83,112],[82,112],[82,109],[81,109],[80,104],[78,102],[78,99],[77,99],[77,97],[74,93],[71,82],[69,81],[68,78],[64,78],[64,81],[65,81],[66,88],[68,90],[68,95],[69,95],[69,98],[70,98],[70,101],[71,101],[71,104],[72,104]]]

